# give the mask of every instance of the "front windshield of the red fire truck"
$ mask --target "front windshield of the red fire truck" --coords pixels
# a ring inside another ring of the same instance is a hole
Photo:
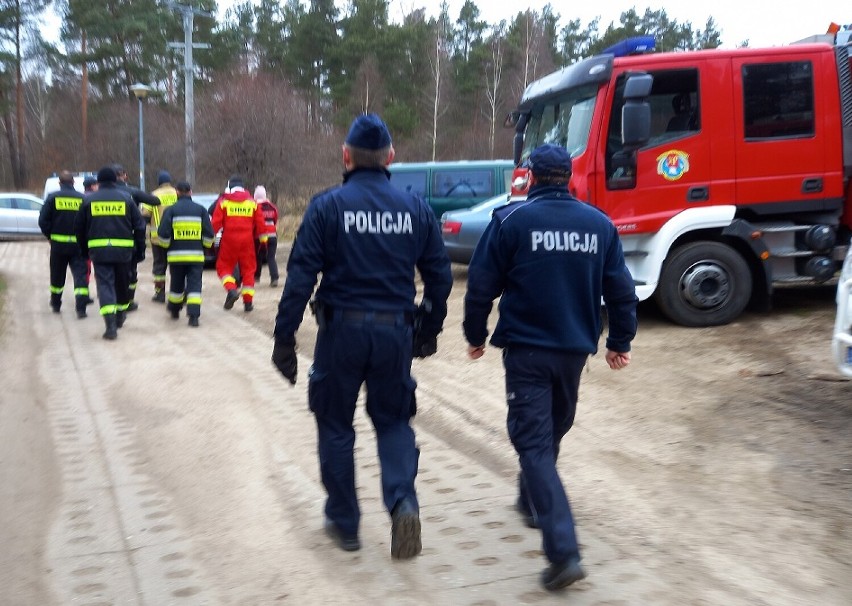
[[[595,84],[571,89],[533,108],[526,131],[521,160],[539,145],[561,145],[578,156],[586,150],[598,87]]]

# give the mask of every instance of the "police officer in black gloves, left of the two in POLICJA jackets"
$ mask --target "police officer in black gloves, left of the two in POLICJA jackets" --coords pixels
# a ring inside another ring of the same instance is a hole
[[[322,273],[312,304],[319,332],[308,403],[328,493],[325,529],[342,549],[360,548],[352,421],[366,383],[391,514],[391,556],[405,559],[421,551],[411,361],[435,353],[453,279],[432,210],[390,184],[393,157],[381,118],[367,114],[353,121],[343,145],[343,184],[314,196],[293,243],[272,360],[295,384],[295,334]],[[415,268],[423,280],[419,307]]]

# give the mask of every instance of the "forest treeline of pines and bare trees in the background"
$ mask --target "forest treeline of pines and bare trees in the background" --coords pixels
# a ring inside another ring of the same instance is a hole
[[[503,158],[504,118],[537,78],[628,36],[653,35],[661,51],[722,42],[712,17],[696,27],[664,9],[602,24],[546,5],[488,23],[467,0],[458,14],[445,3],[395,22],[389,5],[261,0],[219,20],[213,0],[194,0],[191,13],[157,0],[0,0],[0,187],[40,192],[53,171],[107,162],[138,171],[134,83],[154,89],[143,102],[146,182],[160,169],[186,174],[190,20],[195,189],[239,172],[276,198],[339,179],[358,113],[384,117],[398,160]],[[45,31],[46,11],[59,31]]]

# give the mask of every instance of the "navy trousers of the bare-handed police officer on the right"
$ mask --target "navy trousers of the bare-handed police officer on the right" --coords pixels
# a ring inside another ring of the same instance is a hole
[[[556,470],[577,409],[585,354],[511,345],[503,351],[509,438],[521,464],[521,505],[537,517],[554,564],[580,559],[574,516]]]

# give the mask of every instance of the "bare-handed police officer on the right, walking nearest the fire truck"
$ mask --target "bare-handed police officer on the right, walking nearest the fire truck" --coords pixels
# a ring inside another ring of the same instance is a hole
[[[606,361],[630,363],[638,299],[618,233],[599,210],[567,189],[571,157],[545,144],[530,154],[528,198],[494,211],[468,268],[464,333],[478,359],[494,299],[500,318],[491,337],[503,348],[509,437],[520,459],[516,508],[541,528],[550,566],[548,590],[582,579],[574,519],[556,470],[559,443],[571,428],[580,373],[601,334],[606,305]]]

